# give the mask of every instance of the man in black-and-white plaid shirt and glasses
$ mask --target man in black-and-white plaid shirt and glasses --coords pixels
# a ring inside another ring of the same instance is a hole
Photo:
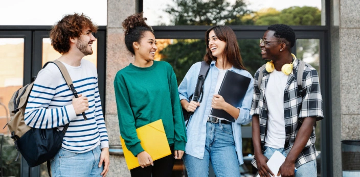
[[[285,24],[268,27],[260,39],[262,59],[272,60],[275,67],[274,71],[271,70],[274,67],[259,68],[254,80],[250,112],[255,151],[252,163],[260,176],[317,176],[315,127],[316,121],[323,119],[319,76],[317,70],[306,64],[304,70],[299,70],[303,77],[298,86],[299,60],[291,55],[295,42],[294,30]],[[282,67],[291,63],[291,73],[282,72]],[[258,81],[260,72],[263,77]],[[271,171],[266,165],[275,151],[286,157],[279,171]]]

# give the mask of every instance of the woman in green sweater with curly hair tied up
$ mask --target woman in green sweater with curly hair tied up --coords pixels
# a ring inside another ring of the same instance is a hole
[[[131,15],[122,23],[125,44],[135,56],[118,71],[114,81],[121,137],[139,160],[131,176],[171,176],[175,159],[181,159],[187,141],[177,81],[171,65],[154,61],[156,40],[143,14]],[[136,129],[162,119],[173,155],[153,161],[140,144]]]

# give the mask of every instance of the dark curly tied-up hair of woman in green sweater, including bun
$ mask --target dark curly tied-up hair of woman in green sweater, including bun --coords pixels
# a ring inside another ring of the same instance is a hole
[[[134,48],[132,47],[133,42],[139,42],[144,37],[146,31],[154,34],[151,27],[149,27],[143,17],[143,12],[128,16],[122,23],[125,33],[125,45],[126,48],[135,55]]]

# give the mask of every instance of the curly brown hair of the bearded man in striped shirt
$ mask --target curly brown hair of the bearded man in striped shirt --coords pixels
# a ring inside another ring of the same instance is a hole
[[[80,37],[82,30],[86,28],[90,28],[94,33],[98,30],[98,26],[83,13],[65,15],[50,31],[51,45],[60,54],[67,53],[70,49],[70,38]]]

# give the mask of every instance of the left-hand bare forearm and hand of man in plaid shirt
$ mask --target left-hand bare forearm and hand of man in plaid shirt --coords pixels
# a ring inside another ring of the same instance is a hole
[[[269,169],[266,162],[268,159],[262,154],[261,150],[261,141],[260,141],[260,123],[259,115],[253,115],[252,120],[252,134],[253,134],[253,144],[256,157],[256,165],[258,166],[259,175],[270,177],[275,176],[274,173]],[[270,175],[271,174],[271,175]]]

